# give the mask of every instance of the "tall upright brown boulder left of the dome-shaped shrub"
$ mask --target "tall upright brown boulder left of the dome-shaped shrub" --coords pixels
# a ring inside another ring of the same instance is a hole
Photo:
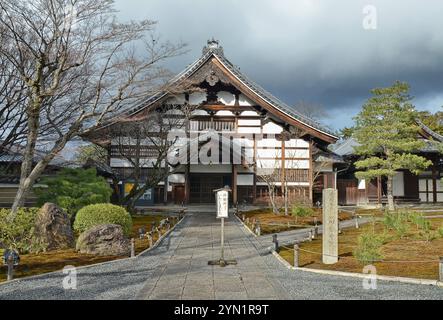
[[[33,241],[43,251],[74,246],[74,234],[68,214],[54,203],[45,203],[35,219]]]

